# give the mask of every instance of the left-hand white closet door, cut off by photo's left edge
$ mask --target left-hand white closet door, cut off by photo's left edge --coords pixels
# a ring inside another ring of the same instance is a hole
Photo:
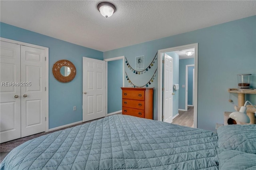
[[[21,97],[20,86],[17,85],[20,83],[20,45],[1,41],[0,54],[0,140],[2,143],[20,138]]]

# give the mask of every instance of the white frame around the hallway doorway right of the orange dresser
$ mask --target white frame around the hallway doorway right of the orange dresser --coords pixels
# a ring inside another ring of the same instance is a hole
[[[198,96],[198,43],[182,45],[178,47],[171,47],[158,50],[158,115],[157,120],[162,121],[162,79],[163,79],[163,66],[162,66],[162,54],[170,51],[176,51],[181,49],[195,49],[195,95],[194,95],[194,128],[197,128],[197,96]]]

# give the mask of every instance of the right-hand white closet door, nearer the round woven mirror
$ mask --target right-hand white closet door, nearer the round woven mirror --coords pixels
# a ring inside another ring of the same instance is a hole
[[[21,45],[21,137],[45,131],[45,50]]]

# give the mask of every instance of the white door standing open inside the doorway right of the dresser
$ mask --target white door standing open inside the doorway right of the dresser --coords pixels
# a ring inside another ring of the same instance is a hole
[[[172,123],[173,58],[164,53],[163,121]]]

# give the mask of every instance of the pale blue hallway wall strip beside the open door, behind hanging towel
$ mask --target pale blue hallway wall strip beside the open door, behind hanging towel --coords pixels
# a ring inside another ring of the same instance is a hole
[[[175,52],[168,52],[167,55],[171,56],[173,58],[173,84],[179,84],[179,55]],[[176,116],[178,114],[178,105],[179,105],[179,90],[173,89],[173,95],[172,99],[172,117]]]

